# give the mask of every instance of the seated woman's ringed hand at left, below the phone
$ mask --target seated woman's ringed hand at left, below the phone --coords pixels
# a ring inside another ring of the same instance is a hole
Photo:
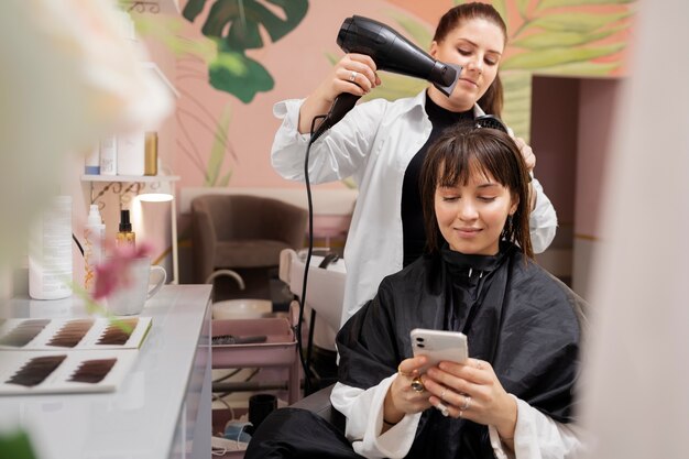
[[[426,363],[426,357],[403,360],[397,367],[397,378],[392,382],[385,395],[383,418],[396,424],[405,414],[419,413],[430,407],[427,391],[416,392],[412,381],[418,376],[418,369]]]

